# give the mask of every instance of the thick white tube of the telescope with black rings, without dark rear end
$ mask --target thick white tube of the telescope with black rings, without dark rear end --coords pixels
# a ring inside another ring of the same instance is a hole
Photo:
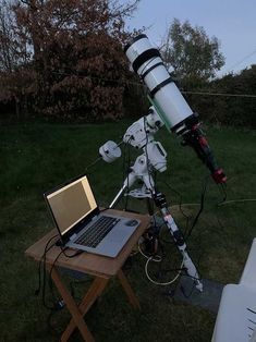
[[[162,121],[169,130],[193,115],[193,111],[168,73],[160,52],[146,35],[138,35],[125,48],[135,73],[149,89],[149,95]]]

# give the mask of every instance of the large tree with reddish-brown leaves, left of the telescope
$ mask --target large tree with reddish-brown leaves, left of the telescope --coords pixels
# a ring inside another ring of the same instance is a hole
[[[23,107],[64,120],[121,117],[127,70],[121,42],[130,36],[124,19],[137,2],[16,1],[12,25],[22,62],[15,73],[22,80],[5,73],[13,85],[9,93],[19,89]]]

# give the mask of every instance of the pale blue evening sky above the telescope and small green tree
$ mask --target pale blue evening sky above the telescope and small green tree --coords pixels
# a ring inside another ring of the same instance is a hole
[[[149,40],[160,45],[174,17],[219,39],[225,58],[219,76],[256,64],[256,0],[141,0],[127,25],[148,27]]]

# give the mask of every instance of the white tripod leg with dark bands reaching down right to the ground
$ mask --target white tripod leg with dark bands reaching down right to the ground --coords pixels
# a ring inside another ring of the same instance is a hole
[[[169,209],[166,203],[166,197],[163,194],[161,193],[157,193],[155,195],[155,203],[157,205],[157,207],[160,209],[163,220],[169,229],[169,232],[171,233],[176,247],[179,248],[180,253],[182,254],[183,257],[183,266],[186,269],[187,274],[194,279],[195,284],[196,284],[196,289],[199,290],[200,292],[203,291],[203,284],[200,282],[199,279],[199,274],[197,272],[197,269],[194,265],[194,262],[192,261],[187,251],[186,251],[186,244],[184,241],[184,237],[182,235],[182,232],[180,231],[180,229],[178,228],[178,225],[175,224]]]

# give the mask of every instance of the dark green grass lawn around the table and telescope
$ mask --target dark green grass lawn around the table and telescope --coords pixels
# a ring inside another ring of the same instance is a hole
[[[24,251],[51,230],[52,222],[42,193],[63,181],[84,173],[108,139],[119,142],[129,121],[101,125],[61,125],[50,123],[2,123],[0,126],[0,341],[58,341],[69,321],[66,309],[52,317],[34,295],[38,283],[37,264]],[[229,181],[227,200],[256,198],[256,133],[223,127],[207,127],[211,147]],[[156,136],[168,151],[168,170],[158,174],[158,187],[173,207],[183,230],[183,211],[195,217],[206,168],[188,147],[181,147],[166,130]],[[126,151],[127,156],[129,151]],[[133,151],[131,151],[133,158]],[[89,169],[90,181],[100,205],[107,206],[123,180],[122,158],[112,164],[99,161]],[[175,190],[175,191],[174,191]],[[191,254],[204,278],[221,283],[237,282],[253,237],[256,235],[256,203],[234,201],[217,206],[222,194],[208,182],[205,210],[188,241]],[[120,204],[122,207],[122,203]],[[143,201],[131,208],[146,210]],[[172,265],[175,249],[166,242],[166,267]],[[107,288],[87,316],[97,341],[206,342],[210,341],[216,316],[164,295],[169,289],[149,283],[145,259],[131,257],[125,273],[137,293],[142,312],[134,313],[117,281]],[[172,265],[171,267],[176,267]],[[69,274],[66,282],[71,282]],[[168,273],[168,277],[173,274]],[[73,282],[77,297],[87,279]],[[49,319],[48,319],[49,318]],[[53,327],[49,329],[47,319]],[[78,333],[71,341],[82,341]]]

